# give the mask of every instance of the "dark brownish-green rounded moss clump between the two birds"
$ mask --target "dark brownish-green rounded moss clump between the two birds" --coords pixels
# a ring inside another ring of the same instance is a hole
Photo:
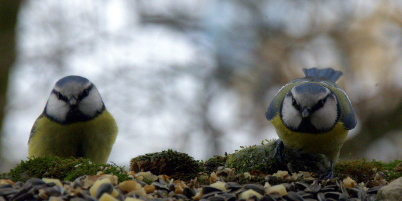
[[[130,168],[135,172],[151,171],[156,175],[166,174],[183,180],[194,178],[202,171],[200,163],[193,157],[172,149],[137,156],[131,159]]]

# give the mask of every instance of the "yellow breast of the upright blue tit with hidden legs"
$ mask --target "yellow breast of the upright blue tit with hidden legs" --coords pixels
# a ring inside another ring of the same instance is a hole
[[[47,116],[38,118],[29,141],[29,156],[56,155],[85,157],[105,163],[117,136],[113,116],[104,110],[94,119],[71,124],[57,123]]]

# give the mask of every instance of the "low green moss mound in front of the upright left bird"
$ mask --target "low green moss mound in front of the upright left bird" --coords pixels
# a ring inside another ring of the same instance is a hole
[[[78,176],[93,175],[98,171],[114,174],[119,177],[119,181],[130,179],[127,172],[124,171],[124,167],[114,164],[95,164],[85,158],[61,158],[58,156],[35,157],[21,161],[14,169],[3,173],[0,177],[23,182],[33,177],[72,181]]]

